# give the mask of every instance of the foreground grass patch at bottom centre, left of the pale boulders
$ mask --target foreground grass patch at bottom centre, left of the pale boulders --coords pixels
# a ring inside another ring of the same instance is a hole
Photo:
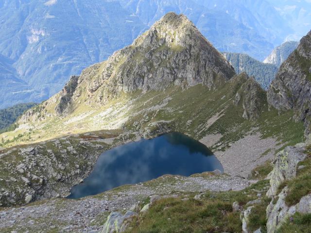
[[[145,215],[135,219],[128,232],[241,232],[240,212],[233,212],[232,203],[237,201],[245,206],[249,200],[257,199],[257,194],[264,193],[267,188],[268,181],[261,181],[242,191],[207,192],[200,200],[194,200],[194,195],[158,200]],[[265,202],[268,200],[264,200]],[[262,216],[261,209],[258,208],[257,215]],[[263,221],[255,216],[253,219],[251,228],[256,230]]]

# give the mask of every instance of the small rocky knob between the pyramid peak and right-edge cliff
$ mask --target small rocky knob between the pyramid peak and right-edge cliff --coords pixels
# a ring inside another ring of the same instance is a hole
[[[237,91],[233,100],[234,105],[242,104],[243,118],[255,120],[259,118],[266,102],[265,91],[253,77],[248,77],[246,73],[235,76],[230,82],[241,82],[241,87]]]

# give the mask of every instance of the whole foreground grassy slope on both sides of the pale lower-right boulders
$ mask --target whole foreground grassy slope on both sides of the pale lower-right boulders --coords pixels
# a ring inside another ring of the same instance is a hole
[[[311,148],[307,148],[311,154]],[[297,177],[284,182],[280,189],[287,185],[289,193],[285,199],[288,206],[295,205],[299,200],[311,193],[311,157],[301,162],[299,166],[305,166],[298,170]],[[270,163],[266,166],[259,166],[254,170],[256,177],[263,179],[272,170]],[[201,200],[194,200],[193,196],[188,199],[181,196],[177,199],[163,199],[156,201],[145,215],[134,219],[131,233],[184,233],[184,232],[241,232],[242,222],[240,212],[233,212],[232,203],[239,202],[243,209],[249,205],[249,200],[258,199],[261,194],[261,203],[255,204],[249,216],[248,230],[254,232],[261,228],[266,232],[266,208],[271,199],[264,194],[269,187],[269,180],[261,180],[250,187],[234,192],[207,192]],[[183,200],[184,199],[184,200]],[[310,233],[311,214],[299,214],[288,218],[277,230],[277,233]]]

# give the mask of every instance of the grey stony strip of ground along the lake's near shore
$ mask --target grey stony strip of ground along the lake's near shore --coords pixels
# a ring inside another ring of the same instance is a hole
[[[212,173],[192,177],[165,175],[158,179],[122,186],[81,200],[53,199],[0,210],[0,232],[100,232],[111,211],[125,211],[151,195],[241,190],[251,181]]]

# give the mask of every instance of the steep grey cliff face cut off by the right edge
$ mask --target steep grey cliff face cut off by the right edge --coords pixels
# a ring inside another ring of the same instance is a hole
[[[303,120],[306,134],[310,133],[311,32],[301,39],[298,48],[282,64],[267,96],[269,104],[276,109],[293,109],[295,119]]]

